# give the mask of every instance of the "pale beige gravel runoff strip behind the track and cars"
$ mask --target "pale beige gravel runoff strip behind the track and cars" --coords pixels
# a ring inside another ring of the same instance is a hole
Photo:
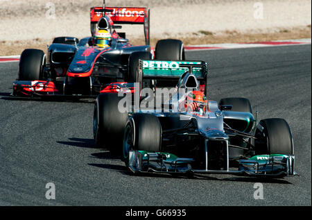
[[[0,0],[0,56],[45,46],[57,36],[90,35],[89,8],[102,3]],[[106,5],[149,7],[152,44],[169,37],[184,44],[311,37],[311,0],[107,0]],[[123,31],[133,43],[144,37],[142,26],[125,25]]]

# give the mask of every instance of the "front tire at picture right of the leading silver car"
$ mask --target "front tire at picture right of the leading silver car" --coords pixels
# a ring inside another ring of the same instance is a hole
[[[255,137],[256,155],[293,154],[291,128],[284,119],[263,119],[259,122]]]

